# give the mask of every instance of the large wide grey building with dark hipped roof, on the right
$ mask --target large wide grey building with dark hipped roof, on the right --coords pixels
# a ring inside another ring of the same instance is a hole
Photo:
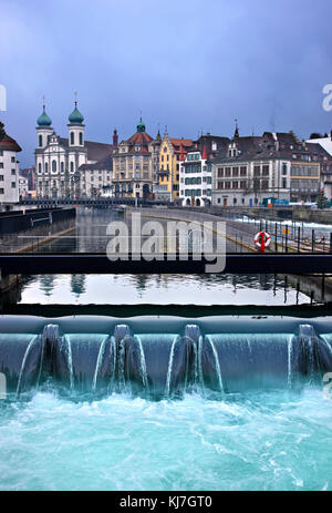
[[[212,164],[212,203],[256,206],[313,202],[320,193],[319,157],[290,133],[240,137]]]

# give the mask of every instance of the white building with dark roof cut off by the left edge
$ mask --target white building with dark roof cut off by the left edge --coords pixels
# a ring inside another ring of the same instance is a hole
[[[9,211],[19,202],[18,143],[7,135],[0,122],[0,211]]]

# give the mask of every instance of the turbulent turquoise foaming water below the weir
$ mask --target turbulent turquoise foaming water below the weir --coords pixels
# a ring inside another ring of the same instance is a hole
[[[0,490],[331,490],[322,390],[0,401]]]

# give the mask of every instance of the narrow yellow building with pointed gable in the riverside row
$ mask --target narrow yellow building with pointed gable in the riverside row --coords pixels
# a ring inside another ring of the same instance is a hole
[[[189,138],[170,138],[165,132],[159,150],[158,184],[155,198],[174,202],[179,197],[179,167],[188,151],[194,147]]]

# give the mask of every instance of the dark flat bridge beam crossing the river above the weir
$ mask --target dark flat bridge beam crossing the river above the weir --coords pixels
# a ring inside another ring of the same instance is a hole
[[[183,255],[181,255],[183,256]],[[181,260],[175,255],[167,260],[167,254],[159,260],[111,261],[105,253],[53,253],[53,254],[1,254],[2,275],[39,274],[205,274],[211,261],[204,256],[195,260],[188,255]],[[328,274],[332,273],[332,254],[281,254],[234,253],[227,254],[225,274]]]

